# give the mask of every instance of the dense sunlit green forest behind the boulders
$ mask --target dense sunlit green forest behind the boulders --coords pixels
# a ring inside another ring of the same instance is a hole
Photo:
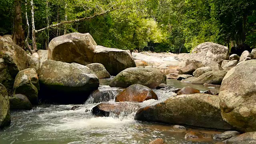
[[[36,33],[37,49],[71,32],[89,32],[106,47],[154,52],[190,52],[202,42],[250,49],[256,44],[256,0],[34,0],[32,5],[30,0],[27,5],[25,0],[1,0],[0,35],[14,33],[17,5],[25,38],[25,13],[31,25],[32,5],[36,30],[111,10]]]

